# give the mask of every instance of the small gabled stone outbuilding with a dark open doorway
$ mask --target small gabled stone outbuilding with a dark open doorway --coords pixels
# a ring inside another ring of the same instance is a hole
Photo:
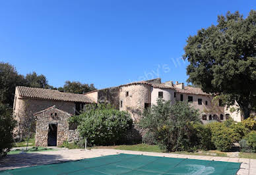
[[[69,137],[68,112],[49,107],[34,114],[36,118],[36,146],[61,146]]]

